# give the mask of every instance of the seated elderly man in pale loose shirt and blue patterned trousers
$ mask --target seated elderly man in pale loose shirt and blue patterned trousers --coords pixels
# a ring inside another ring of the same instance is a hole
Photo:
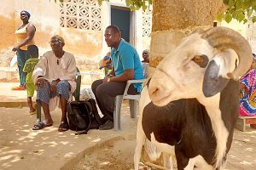
[[[49,111],[61,106],[61,125],[59,132],[69,129],[67,122],[67,101],[72,98],[76,88],[76,62],[73,54],[63,50],[64,39],[54,36],[50,39],[51,51],[46,52],[35,66],[32,79],[38,87],[37,104],[43,107],[45,120],[34,125],[33,130],[52,126]]]

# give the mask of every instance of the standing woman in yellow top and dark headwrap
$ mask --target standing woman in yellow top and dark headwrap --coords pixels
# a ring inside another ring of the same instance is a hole
[[[20,76],[20,86],[13,88],[14,90],[25,90],[25,79],[26,73],[23,72],[23,67],[26,63],[26,60],[29,59],[29,54],[27,53],[27,47],[29,45],[34,45],[34,35],[36,27],[29,23],[28,20],[30,14],[23,10],[20,12],[20,20],[23,24],[15,31],[16,37],[16,46],[13,48],[13,51],[16,51],[17,62]]]

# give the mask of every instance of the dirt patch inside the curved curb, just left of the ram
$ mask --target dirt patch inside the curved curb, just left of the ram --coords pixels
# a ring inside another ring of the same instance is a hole
[[[131,169],[135,146],[133,139],[119,138],[102,144],[96,150],[88,150],[73,170]]]

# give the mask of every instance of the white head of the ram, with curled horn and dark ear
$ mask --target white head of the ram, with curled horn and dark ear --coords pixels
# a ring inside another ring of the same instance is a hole
[[[251,64],[252,50],[238,32],[225,27],[195,32],[156,67],[148,93],[160,106],[176,99],[212,97]]]

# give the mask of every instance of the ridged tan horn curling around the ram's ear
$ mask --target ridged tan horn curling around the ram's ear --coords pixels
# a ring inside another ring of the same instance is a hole
[[[213,48],[220,50],[232,48],[239,58],[239,65],[235,71],[228,73],[228,77],[238,80],[250,68],[253,62],[252,49],[247,40],[240,33],[226,27],[213,27],[201,35]]]

